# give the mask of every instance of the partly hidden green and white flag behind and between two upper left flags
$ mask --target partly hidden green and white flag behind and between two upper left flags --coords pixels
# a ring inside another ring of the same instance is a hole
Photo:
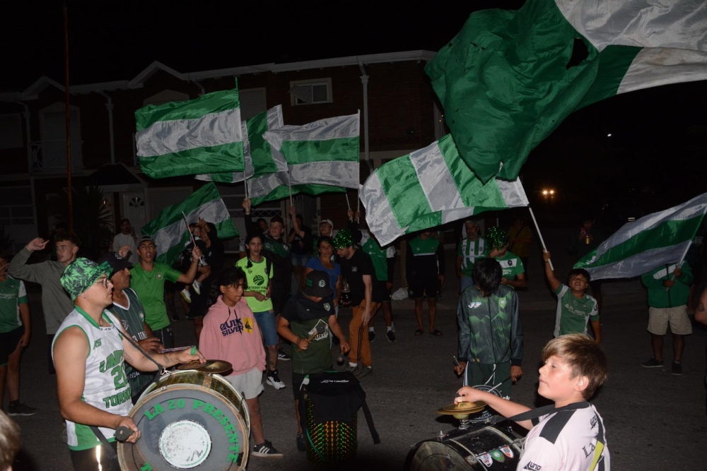
[[[266,177],[264,185],[267,186],[267,179],[269,179],[270,174],[287,171],[287,163],[284,157],[279,154],[279,151],[273,150],[271,145],[263,138],[265,131],[278,129],[282,126],[284,126],[284,121],[282,119],[281,105],[277,105],[250,119],[241,121],[244,171],[200,174],[197,175],[196,178],[198,180],[218,181],[220,183],[237,183],[244,179],[254,179],[251,181],[251,185],[256,187],[257,193],[262,193],[265,190],[259,190],[259,178]],[[254,160],[257,162],[255,165],[253,164]],[[267,193],[270,193],[270,191],[264,192],[264,194]]]

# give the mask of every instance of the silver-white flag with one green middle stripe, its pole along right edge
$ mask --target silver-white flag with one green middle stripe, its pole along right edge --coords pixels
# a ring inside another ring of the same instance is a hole
[[[263,138],[284,155],[291,185],[358,189],[359,122],[358,113],[320,119],[304,126],[282,126],[265,132]]]

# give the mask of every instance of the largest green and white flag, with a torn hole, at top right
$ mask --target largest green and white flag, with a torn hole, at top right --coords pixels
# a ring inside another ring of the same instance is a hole
[[[707,79],[706,35],[703,0],[527,0],[472,13],[426,72],[469,168],[513,180],[576,109]]]

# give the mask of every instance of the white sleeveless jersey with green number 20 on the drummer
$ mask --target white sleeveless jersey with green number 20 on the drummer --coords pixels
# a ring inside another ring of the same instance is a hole
[[[110,327],[100,327],[93,318],[75,306],[57,330],[54,342],[66,328],[76,326],[83,330],[88,341],[86,357],[86,383],[81,398],[89,405],[111,414],[128,415],[132,409],[130,386],[125,374],[123,338],[117,326],[120,321],[114,314],[103,311],[103,318]],[[52,344],[52,357],[54,345]],[[106,439],[114,441],[115,430],[99,427]],[[100,445],[87,425],[66,421],[66,436],[70,450],[88,450]]]

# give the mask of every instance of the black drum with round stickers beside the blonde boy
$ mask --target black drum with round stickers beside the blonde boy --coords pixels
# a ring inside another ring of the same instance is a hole
[[[405,470],[515,470],[525,439],[509,427],[455,429],[412,447]]]

